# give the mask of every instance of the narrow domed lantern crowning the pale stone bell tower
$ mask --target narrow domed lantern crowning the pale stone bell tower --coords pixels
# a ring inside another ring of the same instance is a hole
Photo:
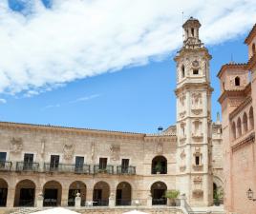
[[[199,39],[199,29],[201,24],[198,19],[190,17],[182,26],[184,29],[183,48],[198,49],[203,48],[203,43]]]

